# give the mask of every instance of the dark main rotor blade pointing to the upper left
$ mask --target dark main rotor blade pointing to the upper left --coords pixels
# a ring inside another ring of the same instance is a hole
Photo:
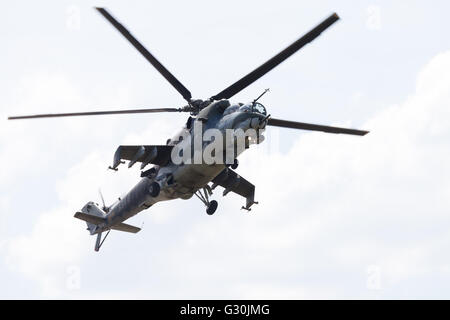
[[[121,24],[119,23],[113,16],[106,11],[105,8],[95,8],[98,12],[101,13],[103,17],[106,18],[127,40],[150,62],[159,73],[162,74],[167,81],[183,96],[185,100],[188,102],[192,98],[191,93],[184,85],[178,81],[177,78],[173,74],[169,72],[145,47]]]

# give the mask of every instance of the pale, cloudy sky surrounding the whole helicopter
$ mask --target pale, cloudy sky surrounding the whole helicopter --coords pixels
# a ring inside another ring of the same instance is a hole
[[[93,6],[208,98],[337,12],[313,43],[233,97],[276,118],[370,130],[269,128],[236,170],[256,185],[156,204],[100,252],[73,218],[139,181],[121,144],[163,144],[184,114],[7,121],[180,107]],[[446,1],[31,1],[0,10],[0,298],[450,298],[450,9]]]

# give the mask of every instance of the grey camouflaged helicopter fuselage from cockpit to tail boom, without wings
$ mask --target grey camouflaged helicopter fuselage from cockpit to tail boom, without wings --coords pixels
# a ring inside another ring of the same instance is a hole
[[[200,151],[203,155],[208,145],[212,143],[212,139],[205,139],[208,131],[215,130],[216,134],[220,133],[223,137],[223,150],[233,150],[235,154],[232,160],[234,160],[250,144],[263,141],[259,130],[264,129],[266,122],[266,114],[255,112],[249,104],[230,105],[228,100],[211,103],[200,111],[196,118],[188,119],[186,125],[167,141],[167,145],[176,146],[178,150],[192,150],[193,154],[188,163],[176,163],[174,159],[171,159],[164,166],[152,167],[133,189],[107,209],[106,222],[93,234],[106,231],[157,202],[190,199],[199,189],[205,188],[230,165],[226,163],[226,160],[219,163],[206,163],[204,158],[200,158],[200,162],[195,161],[195,152]],[[196,130],[197,128],[200,129]],[[248,129],[258,130],[258,139],[251,140],[244,148],[236,145],[237,139],[227,139],[230,137],[230,132],[237,130],[245,132]],[[152,196],[150,190],[155,182],[158,183],[160,192],[157,196]]]

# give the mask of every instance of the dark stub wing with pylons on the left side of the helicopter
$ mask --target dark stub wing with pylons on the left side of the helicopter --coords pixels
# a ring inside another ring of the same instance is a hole
[[[148,164],[163,166],[170,160],[173,146],[119,146],[114,153],[113,170],[117,170],[122,160],[129,160],[128,168],[136,162],[141,163],[141,169]]]

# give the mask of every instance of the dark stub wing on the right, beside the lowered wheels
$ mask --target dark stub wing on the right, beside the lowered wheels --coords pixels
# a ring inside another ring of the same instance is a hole
[[[238,175],[230,168],[225,168],[217,177],[213,180],[212,188],[217,186],[223,187],[223,195],[227,195],[230,191],[246,198],[247,202],[243,209],[250,210],[250,207],[257,203],[255,202],[255,186]]]

